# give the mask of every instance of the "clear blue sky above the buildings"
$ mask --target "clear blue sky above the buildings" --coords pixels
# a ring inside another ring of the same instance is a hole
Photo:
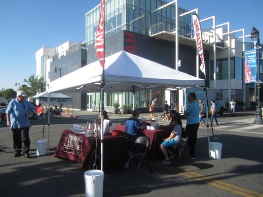
[[[16,82],[21,85],[36,73],[35,53],[41,47],[83,41],[84,14],[99,3],[100,0],[1,0],[0,89],[16,89]],[[179,0],[179,6],[188,10],[198,7],[201,19],[215,15],[217,24],[229,21],[231,31],[245,28],[249,34],[254,25],[263,35],[262,0]]]

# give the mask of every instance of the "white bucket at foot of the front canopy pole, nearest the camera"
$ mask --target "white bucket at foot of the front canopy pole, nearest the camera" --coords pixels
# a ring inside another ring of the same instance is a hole
[[[104,172],[101,170],[88,170],[84,173],[85,197],[103,196]]]

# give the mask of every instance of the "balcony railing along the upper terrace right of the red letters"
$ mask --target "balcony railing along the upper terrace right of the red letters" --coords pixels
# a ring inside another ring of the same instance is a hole
[[[190,27],[179,25],[178,30],[180,35],[183,35],[191,39],[194,38],[194,30],[191,29]],[[151,25],[150,28],[147,28],[147,32],[150,36],[163,31],[170,33],[175,32],[175,24],[169,21],[162,21],[160,23]],[[205,33],[202,33],[202,40],[204,43],[214,43],[213,36]],[[220,38],[216,38],[216,45],[220,47],[224,47],[225,42]]]

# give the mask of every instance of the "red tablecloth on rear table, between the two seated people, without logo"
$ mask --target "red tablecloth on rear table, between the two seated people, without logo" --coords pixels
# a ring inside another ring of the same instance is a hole
[[[143,133],[150,139],[150,158],[159,159],[163,157],[159,146],[163,142],[163,138],[170,136],[171,130],[143,130]]]

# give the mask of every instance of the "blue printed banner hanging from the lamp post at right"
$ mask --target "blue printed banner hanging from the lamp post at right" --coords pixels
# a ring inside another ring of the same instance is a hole
[[[257,51],[245,51],[245,83],[257,81]]]

